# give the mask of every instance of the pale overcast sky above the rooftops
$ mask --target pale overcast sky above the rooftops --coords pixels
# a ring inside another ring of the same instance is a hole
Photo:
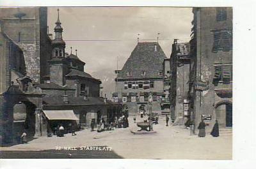
[[[57,8],[48,8],[49,32],[57,20]],[[63,40],[66,52],[75,53],[86,62],[85,71],[122,69],[125,61],[140,41],[156,41],[170,57],[173,39],[189,41],[191,34],[191,8],[135,7],[135,8],[60,8]],[[103,40],[103,41],[102,41]],[[110,40],[110,41],[108,41]]]

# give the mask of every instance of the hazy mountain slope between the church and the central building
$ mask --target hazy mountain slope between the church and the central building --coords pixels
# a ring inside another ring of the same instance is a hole
[[[94,71],[91,75],[92,77],[99,78],[101,80],[103,96],[106,94],[107,98],[112,98],[112,93],[115,92],[115,71],[111,69],[104,69]]]

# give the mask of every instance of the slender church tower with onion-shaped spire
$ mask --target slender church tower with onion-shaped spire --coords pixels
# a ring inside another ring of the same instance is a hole
[[[50,64],[50,81],[54,84],[65,85],[65,75],[68,73],[68,62],[65,57],[65,41],[62,39],[63,28],[60,22],[60,13],[58,9],[58,19],[54,27],[55,38],[52,40],[52,59]]]

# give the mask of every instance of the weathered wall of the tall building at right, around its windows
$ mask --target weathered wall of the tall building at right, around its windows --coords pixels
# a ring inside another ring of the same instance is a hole
[[[232,50],[229,52],[212,52],[214,44],[214,34],[212,31],[220,29],[229,29],[232,31],[232,8],[227,8],[227,20],[216,21],[216,8],[200,8],[196,11],[196,79],[209,82],[207,91],[196,91],[195,96],[195,115],[196,127],[200,120],[200,115],[212,115],[211,125],[207,128],[211,130],[216,117],[214,113],[214,104],[218,101],[227,101],[232,98],[219,98],[212,84],[214,77],[215,62],[232,62]],[[232,84],[228,86],[232,89]]]

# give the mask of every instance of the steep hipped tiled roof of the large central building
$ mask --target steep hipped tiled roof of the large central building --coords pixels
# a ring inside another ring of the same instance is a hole
[[[155,45],[157,51],[155,52]],[[157,42],[140,42],[132,51],[118,73],[118,80],[131,78],[163,78],[163,61],[166,58],[162,48]],[[145,75],[142,72],[145,71]],[[130,75],[127,75],[129,72]]]

